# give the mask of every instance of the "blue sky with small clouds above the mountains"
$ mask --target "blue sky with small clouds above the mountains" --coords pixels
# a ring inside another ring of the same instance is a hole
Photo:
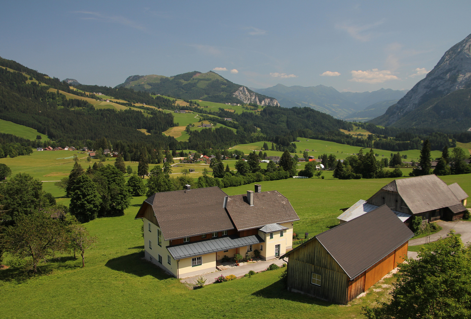
[[[106,86],[216,69],[256,88],[410,89],[471,33],[470,9],[471,1],[9,1],[0,56]]]

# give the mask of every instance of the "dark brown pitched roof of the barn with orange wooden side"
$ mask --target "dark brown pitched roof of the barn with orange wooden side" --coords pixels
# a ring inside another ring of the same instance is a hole
[[[281,258],[318,240],[350,279],[389,255],[414,233],[386,205],[316,235]]]

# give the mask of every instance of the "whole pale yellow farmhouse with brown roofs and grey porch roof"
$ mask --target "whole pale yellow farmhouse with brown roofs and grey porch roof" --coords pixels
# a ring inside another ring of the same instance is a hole
[[[219,187],[155,193],[140,207],[145,258],[177,278],[216,270],[216,262],[235,254],[269,260],[292,247],[299,220],[277,191],[228,196]]]

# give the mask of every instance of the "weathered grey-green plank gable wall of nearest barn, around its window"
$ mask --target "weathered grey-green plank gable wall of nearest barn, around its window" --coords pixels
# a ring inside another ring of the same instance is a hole
[[[292,252],[289,258],[289,290],[335,303],[347,303],[347,274],[317,238]],[[312,272],[321,275],[320,286],[311,283]]]

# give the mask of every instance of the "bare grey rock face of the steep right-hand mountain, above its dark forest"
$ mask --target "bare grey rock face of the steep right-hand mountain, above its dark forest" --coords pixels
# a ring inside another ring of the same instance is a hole
[[[433,98],[443,97],[471,86],[471,34],[442,56],[427,76],[419,81],[397,104],[375,123],[391,125]]]

